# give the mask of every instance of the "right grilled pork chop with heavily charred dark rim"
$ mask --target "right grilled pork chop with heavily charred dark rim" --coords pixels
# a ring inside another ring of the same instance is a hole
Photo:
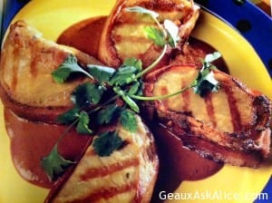
[[[190,89],[146,107],[183,145],[203,157],[256,168],[269,154],[271,102],[230,75],[213,72],[220,82],[219,92],[201,98]],[[177,92],[198,73],[193,66],[161,68],[147,76],[144,93],[158,96]]]

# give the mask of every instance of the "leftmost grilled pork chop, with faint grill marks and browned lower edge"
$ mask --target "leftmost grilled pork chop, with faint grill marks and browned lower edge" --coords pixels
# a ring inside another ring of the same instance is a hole
[[[92,56],[45,40],[23,21],[12,24],[1,53],[0,95],[5,106],[28,120],[55,121],[73,106],[70,94],[85,80],[53,81],[51,73],[71,53],[83,65],[101,64]]]

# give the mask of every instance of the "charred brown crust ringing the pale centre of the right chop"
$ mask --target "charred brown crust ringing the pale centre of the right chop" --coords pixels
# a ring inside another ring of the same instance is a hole
[[[152,96],[154,85],[160,75],[183,67],[195,68],[187,65],[170,65],[150,73],[146,77],[144,95]],[[220,82],[221,89],[235,85],[239,91],[246,92],[248,99],[252,102],[251,111],[253,111],[254,116],[250,123],[241,126],[238,131],[233,133],[219,131],[186,113],[170,111],[167,107],[160,108],[160,105],[165,105],[163,102],[148,102],[144,106],[151,113],[151,119],[157,118],[165,123],[170,131],[182,140],[185,146],[198,151],[203,157],[233,165],[256,168],[269,155],[271,102],[265,95],[249,90],[234,77],[219,71],[214,73]],[[209,140],[206,137],[207,133],[209,136],[218,138],[218,141]]]

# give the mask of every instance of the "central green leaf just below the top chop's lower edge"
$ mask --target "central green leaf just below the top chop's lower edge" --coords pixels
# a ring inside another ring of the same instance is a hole
[[[110,80],[110,85],[123,85],[133,81],[135,73],[138,73],[138,68],[135,66],[122,65],[113,75]]]

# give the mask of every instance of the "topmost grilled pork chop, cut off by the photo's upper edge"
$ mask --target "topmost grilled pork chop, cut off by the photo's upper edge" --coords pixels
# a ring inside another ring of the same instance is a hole
[[[169,19],[180,28],[180,43],[186,41],[198,17],[199,7],[187,0],[120,0],[109,15],[100,40],[98,57],[107,65],[118,67],[126,58],[141,59],[143,67],[158,58],[161,48],[146,36],[147,26],[158,27],[154,20],[144,14],[136,14],[125,9],[141,6],[160,14],[161,23]],[[164,57],[167,63],[167,57]]]

